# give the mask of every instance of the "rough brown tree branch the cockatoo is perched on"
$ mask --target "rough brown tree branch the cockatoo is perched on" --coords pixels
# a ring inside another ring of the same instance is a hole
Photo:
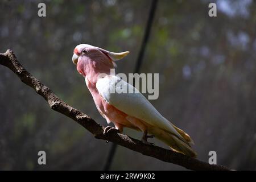
[[[16,59],[13,51],[9,49],[5,53],[0,53],[0,64],[11,69],[11,71],[13,71],[20,78],[20,80],[24,82],[24,84],[33,88],[36,93],[38,93],[46,101],[48,101],[51,109],[73,119],[74,121],[82,125],[86,130],[90,131],[90,133],[92,133],[97,139],[108,140],[123,147],[129,148],[130,150],[137,151],[143,155],[151,156],[164,162],[177,164],[187,169],[230,170],[228,167],[210,165],[208,163],[201,162],[200,160],[193,159],[189,156],[179,154],[177,152],[167,150],[158,146],[149,146],[142,143],[140,140],[131,138],[127,135],[115,133],[115,131],[104,135],[104,126],[101,126],[88,115],[61,101],[60,98],[58,98],[52,92],[52,90],[50,90],[47,86],[43,85],[42,82],[40,82],[38,79],[36,79],[34,76],[26,71],[26,69]]]

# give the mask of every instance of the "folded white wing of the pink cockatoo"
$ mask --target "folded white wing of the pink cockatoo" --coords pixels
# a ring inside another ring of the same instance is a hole
[[[117,76],[100,78],[97,81],[96,88],[110,105],[123,111],[123,113],[141,119],[183,139],[171,123],[134,86],[121,78]]]

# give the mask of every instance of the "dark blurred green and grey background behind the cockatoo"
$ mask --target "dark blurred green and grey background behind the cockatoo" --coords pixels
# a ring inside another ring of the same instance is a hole
[[[39,18],[38,3],[46,3]],[[217,17],[208,16],[210,2]],[[130,51],[116,72],[133,73],[151,2],[7,1],[0,3],[0,52],[13,49],[20,63],[61,100],[107,126],[84,78],[72,63],[86,43]],[[256,169],[256,2],[160,0],[141,72],[159,73],[159,98],[150,102],[195,140],[198,159],[234,169]],[[141,138],[142,133],[125,129]],[[164,146],[157,140],[151,140]],[[0,66],[0,169],[104,168],[111,143],[51,110],[46,101]],[[47,165],[38,165],[38,151]],[[121,146],[110,169],[174,170]]]

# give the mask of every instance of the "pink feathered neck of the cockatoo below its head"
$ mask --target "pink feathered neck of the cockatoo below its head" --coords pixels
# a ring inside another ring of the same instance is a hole
[[[108,60],[107,60],[108,61]],[[108,63],[109,62],[109,63]],[[110,69],[113,69],[113,64],[108,61],[105,64],[93,60],[82,60],[77,63],[77,71],[92,84],[96,86],[97,80],[102,78],[102,75],[110,75]],[[88,85],[87,85],[88,86]]]

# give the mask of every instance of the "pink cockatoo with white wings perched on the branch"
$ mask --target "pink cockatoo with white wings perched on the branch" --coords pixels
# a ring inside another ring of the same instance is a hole
[[[110,130],[122,133],[123,127],[129,127],[143,132],[143,143],[151,144],[147,139],[156,137],[172,150],[196,157],[196,152],[191,148],[193,140],[187,133],[164,118],[134,86],[110,74],[110,69],[115,68],[114,61],[128,53],[110,52],[88,44],[80,44],[74,49],[73,63],[85,78],[98,111],[108,123],[114,123],[115,128],[105,127],[104,134]],[[104,77],[102,73],[105,73]],[[123,89],[123,85],[137,92],[110,92],[112,89]]]

